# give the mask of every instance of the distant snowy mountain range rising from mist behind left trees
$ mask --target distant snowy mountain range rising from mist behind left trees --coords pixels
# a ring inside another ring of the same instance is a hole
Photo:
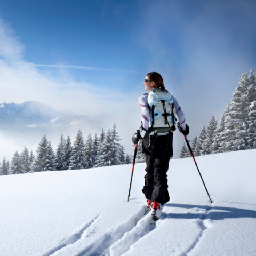
[[[26,101],[22,104],[0,104],[0,161],[5,156],[11,161],[15,150],[24,147],[35,152],[39,141],[45,134],[51,140],[54,149],[60,135],[70,135],[74,140],[78,129],[84,137],[89,133],[100,133],[102,127],[110,129],[115,120],[106,113],[95,115],[77,115],[72,111],[58,111],[49,105],[37,101]]]

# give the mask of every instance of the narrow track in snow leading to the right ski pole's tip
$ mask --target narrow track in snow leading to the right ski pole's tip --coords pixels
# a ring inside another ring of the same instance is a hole
[[[205,211],[204,211],[204,213],[202,213],[201,217],[199,219],[196,219],[197,226],[200,230],[199,234],[195,238],[194,242],[188,247],[188,249],[185,252],[182,252],[180,254],[180,256],[187,256],[191,251],[193,251],[195,249],[196,245],[198,244],[198,242],[200,241],[200,239],[203,237],[204,231],[207,228],[210,228],[212,226],[211,220],[209,218],[207,218],[207,214],[209,214],[209,212],[211,211],[213,204],[214,204],[214,201],[213,201],[212,205],[207,205],[205,207]],[[202,211],[202,209],[197,209],[197,208],[194,208],[191,210],[194,210],[197,213],[198,212],[201,213],[201,211]],[[190,213],[194,213],[194,211],[190,212]]]

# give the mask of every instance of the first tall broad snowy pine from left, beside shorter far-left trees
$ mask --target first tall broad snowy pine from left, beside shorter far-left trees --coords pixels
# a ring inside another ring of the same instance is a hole
[[[37,150],[37,156],[33,166],[34,172],[53,171],[55,170],[55,157],[51,146],[51,142],[43,135]]]

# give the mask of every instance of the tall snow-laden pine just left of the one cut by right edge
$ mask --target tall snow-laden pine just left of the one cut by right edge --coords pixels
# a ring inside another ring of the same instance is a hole
[[[225,122],[225,151],[243,150],[250,148],[247,135],[247,116],[249,115],[248,102],[248,74],[244,71],[240,82],[230,101],[229,112]]]

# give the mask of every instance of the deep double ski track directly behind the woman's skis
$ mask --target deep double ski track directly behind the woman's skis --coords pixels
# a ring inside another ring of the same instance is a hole
[[[145,206],[127,222],[103,234],[75,256],[117,256],[128,251],[133,243],[155,228],[149,224],[150,216],[144,214]]]

